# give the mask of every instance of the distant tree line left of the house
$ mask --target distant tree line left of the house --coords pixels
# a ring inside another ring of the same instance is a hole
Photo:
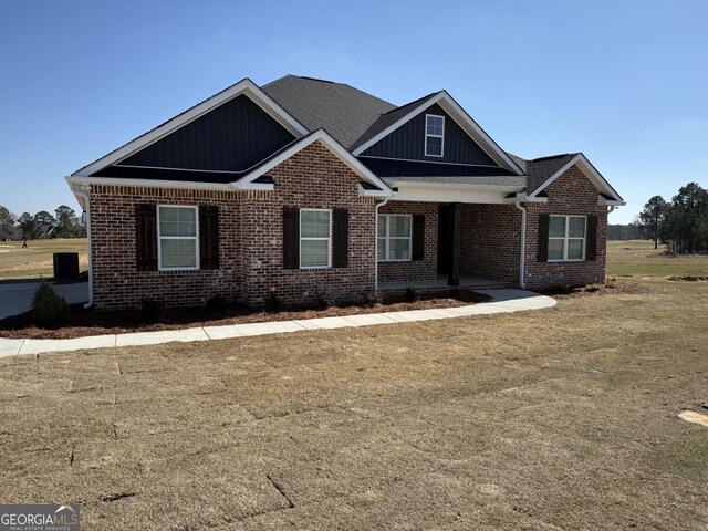
[[[86,227],[73,208],[60,205],[52,216],[46,210],[15,216],[0,205],[0,240],[38,238],[85,238]]]

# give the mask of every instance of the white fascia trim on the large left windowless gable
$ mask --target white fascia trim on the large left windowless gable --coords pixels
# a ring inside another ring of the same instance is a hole
[[[306,135],[309,133],[305,126],[303,126],[300,122],[292,117],[288,112],[285,112],[284,108],[282,108],[270,96],[268,96],[268,94],[261,91],[256,83],[247,77],[246,80],[239,81],[235,85],[229,86],[218,94],[215,94],[208,100],[205,100],[200,104],[195,105],[190,110],[175,116],[159,127],[156,127],[145,133],[144,135],[138,136],[134,140],[128,142],[124,146],[115,149],[114,152],[111,152],[98,160],[84,166],[73,175],[79,177],[87,177],[105,168],[106,166],[116,164],[129,157],[134,153],[146,148],[150,144],[156,143],[170,133],[174,133],[178,128],[184,127],[190,122],[194,122],[200,116],[204,116],[209,111],[218,107],[219,105],[240,96],[241,94],[246,94],[248,97],[250,97],[253,103],[256,103],[259,107],[270,114],[278,123],[290,131],[295,137],[302,137],[303,135]]]

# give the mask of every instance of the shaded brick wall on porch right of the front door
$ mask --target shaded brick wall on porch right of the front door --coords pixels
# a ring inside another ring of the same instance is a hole
[[[519,283],[521,212],[513,205],[462,205],[460,274]]]

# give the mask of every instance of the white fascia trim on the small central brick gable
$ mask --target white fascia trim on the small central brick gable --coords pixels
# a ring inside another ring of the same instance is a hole
[[[391,190],[391,188],[388,188],[386,183],[384,183],[378,177],[376,177],[376,175],[374,175],[366,166],[364,166],[361,162],[358,162],[356,157],[354,157],[350,152],[347,152],[339,142],[336,142],[332,136],[330,136],[330,134],[324,129],[317,129],[314,133],[302,138],[300,142],[295,142],[288,149],[284,149],[282,153],[280,153],[277,157],[271,158],[267,163],[260,165],[250,174],[243,176],[241,179],[231,184],[233,185],[235,188],[239,190],[253,189],[251,187],[258,184],[258,183],[253,183],[256,179],[266,175],[268,171],[273,169],[279,164],[284,163],[294,154],[301,152],[302,149],[308,147],[310,144],[317,140],[324,144],[324,146],[327,149],[330,149],[330,152],[334,154],[334,156],[336,156],[340,160],[342,160],[350,168],[352,168],[352,170],[356,175],[358,175],[364,180],[369,181],[372,185],[376,186],[377,188],[381,188],[381,191],[377,191],[378,197],[393,196],[393,191]],[[376,190],[369,190],[369,191],[376,191]]]

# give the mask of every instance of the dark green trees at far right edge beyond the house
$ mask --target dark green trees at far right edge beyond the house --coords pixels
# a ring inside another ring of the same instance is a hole
[[[708,190],[689,183],[670,201],[654,196],[639,212],[639,225],[655,249],[665,243],[670,253],[708,252]]]

